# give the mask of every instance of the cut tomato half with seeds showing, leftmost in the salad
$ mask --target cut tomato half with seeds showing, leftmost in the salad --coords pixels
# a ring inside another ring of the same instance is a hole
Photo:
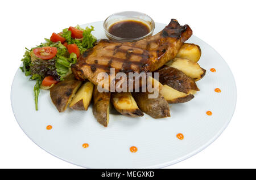
[[[41,59],[52,59],[57,54],[57,48],[55,47],[43,47],[43,48],[35,48],[33,49],[34,54],[36,57],[39,57]]]

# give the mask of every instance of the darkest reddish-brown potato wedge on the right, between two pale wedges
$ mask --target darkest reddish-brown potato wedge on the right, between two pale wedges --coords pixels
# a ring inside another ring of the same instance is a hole
[[[159,73],[160,83],[166,84],[177,91],[184,92],[186,94],[191,90],[200,91],[192,78],[174,67],[163,66],[156,72]]]

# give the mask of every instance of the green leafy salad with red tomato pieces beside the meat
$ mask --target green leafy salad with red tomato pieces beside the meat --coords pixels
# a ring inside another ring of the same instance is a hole
[[[51,38],[35,48],[27,49],[20,67],[30,80],[35,80],[35,109],[38,110],[40,88],[49,89],[71,74],[71,65],[76,63],[80,54],[92,48],[96,37],[91,32],[93,27],[69,27],[60,33],[52,33]]]

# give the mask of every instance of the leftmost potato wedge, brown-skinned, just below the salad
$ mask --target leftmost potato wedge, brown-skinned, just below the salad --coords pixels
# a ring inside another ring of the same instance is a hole
[[[69,102],[81,84],[80,80],[76,80],[73,75],[69,75],[62,82],[53,85],[50,89],[50,96],[59,112],[64,112],[67,109]]]

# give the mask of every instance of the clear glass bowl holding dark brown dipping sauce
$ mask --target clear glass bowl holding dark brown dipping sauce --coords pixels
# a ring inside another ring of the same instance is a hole
[[[104,31],[110,40],[138,41],[152,36],[155,23],[141,12],[125,11],[109,16],[104,22]]]

